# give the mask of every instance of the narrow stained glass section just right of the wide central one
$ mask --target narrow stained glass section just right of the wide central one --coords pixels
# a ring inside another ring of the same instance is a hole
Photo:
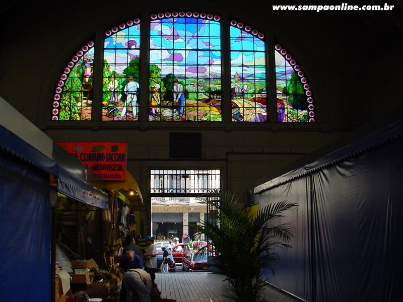
[[[265,122],[266,59],[264,35],[231,21],[232,121]]]

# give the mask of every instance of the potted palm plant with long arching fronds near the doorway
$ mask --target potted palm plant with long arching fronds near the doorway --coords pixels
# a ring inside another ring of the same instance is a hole
[[[261,268],[268,267],[274,273],[279,260],[274,249],[291,247],[287,243],[293,238],[292,225],[279,219],[297,204],[274,202],[249,215],[232,192],[214,191],[200,200],[216,210],[208,221],[192,227],[196,240],[205,234],[214,245],[215,266],[229,282],[230,290],[224,296],[238,302],[265,301]]]

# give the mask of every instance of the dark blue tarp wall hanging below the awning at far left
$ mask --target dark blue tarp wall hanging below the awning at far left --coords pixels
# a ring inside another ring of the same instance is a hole
[[[0,300],[50,300],[49,174],[0,149]]]

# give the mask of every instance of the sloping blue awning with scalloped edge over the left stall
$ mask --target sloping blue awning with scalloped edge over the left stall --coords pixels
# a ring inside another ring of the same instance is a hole
[[[53,175],[57,179],[58,192],[99,208],[108,208],[108,195],[105,192],[65,170],[55,161],[2,125],[0,125],[0,147]]]

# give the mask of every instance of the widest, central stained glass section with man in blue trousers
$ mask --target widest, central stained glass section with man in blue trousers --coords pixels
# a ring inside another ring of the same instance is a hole
[[[220,18],[151,16],[149,120],[221,121]]]

